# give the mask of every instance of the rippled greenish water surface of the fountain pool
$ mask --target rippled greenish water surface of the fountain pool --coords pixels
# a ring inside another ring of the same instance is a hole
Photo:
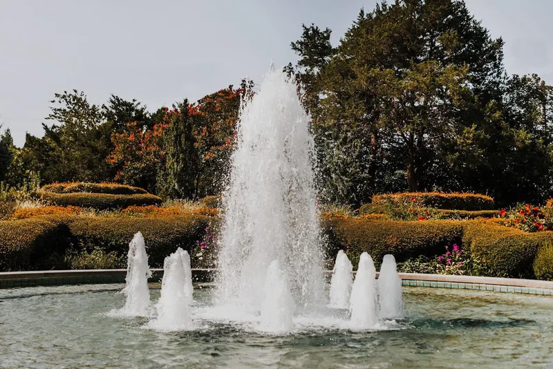
[[[194,291],[199,329],[145,330],[146,319],[106,316],[124,304],[121,287],[0,290],[0,367],[553,368],[547,296],[409,287],[409,317],[388,323],[391,329],[352,332],[299,321],[294,334],[274,337],[207,320],[209,289]]]

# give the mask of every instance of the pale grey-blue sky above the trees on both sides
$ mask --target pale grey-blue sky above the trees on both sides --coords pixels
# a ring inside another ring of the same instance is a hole
[[[0,0],[0,124],[17,146],[41,136],[54,93],[113,93],[153,111],[261,82],[271,61],[297,61],[301,24],[332,30],[332,45],[375,0]],[[505,41],[509,74],[553,84],[550,0],[467,0],[491,36]]]

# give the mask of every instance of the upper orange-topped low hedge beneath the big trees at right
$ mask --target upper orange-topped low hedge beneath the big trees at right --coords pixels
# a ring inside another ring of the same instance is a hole
[[[495,207],[494,199],[489,196],[455,192],[387,193],[373,196],[373,205],[385,205],[386,200],[397,203],[415,202],[419,207],[449,210],[493,210]]]

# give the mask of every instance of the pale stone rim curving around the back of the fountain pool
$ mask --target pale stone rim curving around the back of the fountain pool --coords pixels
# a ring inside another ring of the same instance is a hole
[[[158,282],[163,269],[151,269],[149,281]],[[194,282],[212,282],[215,269],[192,269]],[[330,277],[332,272],[326,272]],[[378,275],[378,274],[377,274]],[[37,272],[0,272],[0,288],[38,285],[79,285],[124,283],[126,269],[46,270]],[[440,287],[492,292],[553,296],[553,282],[532,279],[451,276],[444,274],[400,273],[402,284],[412,287]]]

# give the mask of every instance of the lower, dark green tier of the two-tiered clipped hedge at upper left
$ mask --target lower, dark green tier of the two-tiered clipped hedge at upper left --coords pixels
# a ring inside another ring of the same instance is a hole
[[[99,210],[118,209],[131,205],[147,206],[161,205],[163,200],[149,193],[136,195],[112,195],[111,193],[54,193],[47,191],[35,191],[31,194],[53,205],[91,207]]]

